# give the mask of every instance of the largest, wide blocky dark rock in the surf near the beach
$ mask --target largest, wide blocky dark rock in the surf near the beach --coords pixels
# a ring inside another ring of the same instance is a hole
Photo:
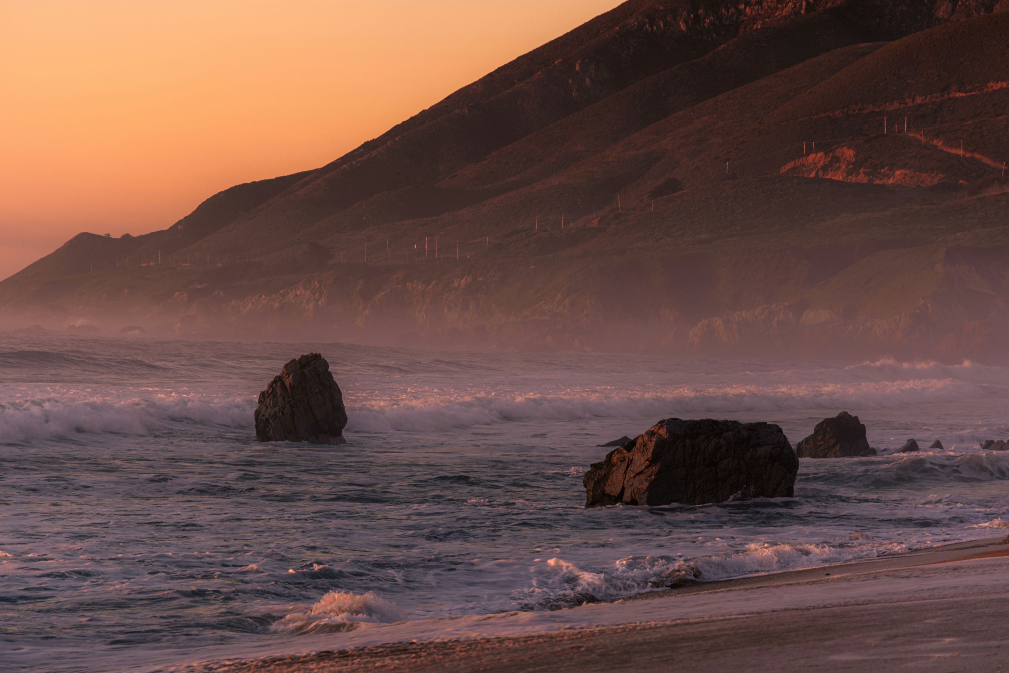
[[[585,474],[585,507],[791,497],[799,459],[776,425],[659,421]]]

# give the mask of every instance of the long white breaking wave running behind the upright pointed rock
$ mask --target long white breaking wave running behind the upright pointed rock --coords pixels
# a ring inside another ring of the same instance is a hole
[[[412,395],[347,396],[353,432],[439,432],[512,422],[576,421],[592,418],[754,417],[780,411],[887,409],[958,401],[986,395],[983,386],[956,379],[919,378],[861,383],[721,385],[615,390],[567,389],[557,394],[462,395],[416,389]],[[166,429],[213,427],[250,431],[252,396],[137,394],[125,399],[47,396],[0,404],[5,443],[72,437],[75,434],[150,435]]]

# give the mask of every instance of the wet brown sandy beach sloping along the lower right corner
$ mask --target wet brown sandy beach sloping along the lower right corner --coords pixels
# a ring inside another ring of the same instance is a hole
[[[448,638],[439,620],[438,640],[425,638],[430,625],[401,623],[341,634],[352,645],[340,649],[158,670],[1001,671],[1007,571],[1009,538],[992,538],[548,614],[461,618]]]

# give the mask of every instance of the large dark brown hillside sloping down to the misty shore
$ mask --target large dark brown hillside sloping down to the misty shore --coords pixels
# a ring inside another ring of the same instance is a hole
[[[314,171],[0,283],[14,326],[1005,359],[1009,2],[632,0]]]

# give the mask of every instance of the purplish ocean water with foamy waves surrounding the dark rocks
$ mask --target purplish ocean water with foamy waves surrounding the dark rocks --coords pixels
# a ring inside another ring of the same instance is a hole
[[[349,443],[259,444],[321,352]],[[368,623],[551,610],[1009,533],[1009,369],[0,335],[0,669],[156,667]],[[793,498],[585,510],[656,421],[861,417],[918,454],[801,461]],[[944,450],[927,450],[939,439]]]

